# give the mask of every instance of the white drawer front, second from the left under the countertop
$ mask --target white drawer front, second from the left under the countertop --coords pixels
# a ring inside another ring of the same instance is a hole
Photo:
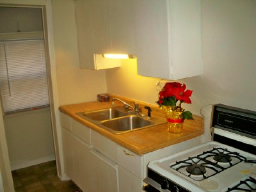
[[[86,143],[91,143],[90,129],[85,127],[83,124],[80,124],[73,118],[71,119],[72,132],[79,136]]]

